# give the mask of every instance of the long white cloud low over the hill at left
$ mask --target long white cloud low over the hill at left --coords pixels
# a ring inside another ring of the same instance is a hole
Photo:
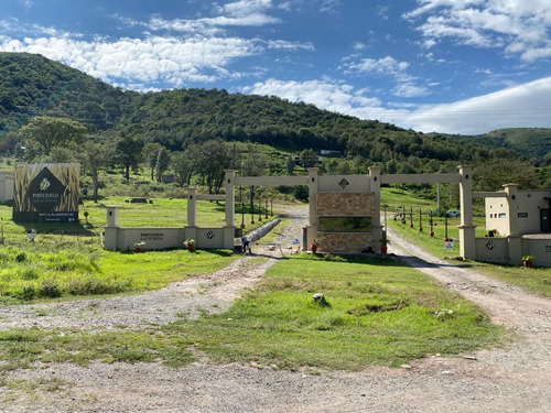
[[[115,42],[69,37],[19,41],[3,36],[0,37],[0,50],[42,54],[106,81],[122,81],[127,87],[139,84],[155,87],[163,83],[182,87],[188,81],[210,83],[230,77],[225,67],[234,59],[261,51],[255,42],[237,37],[182,40],[160,36]]]

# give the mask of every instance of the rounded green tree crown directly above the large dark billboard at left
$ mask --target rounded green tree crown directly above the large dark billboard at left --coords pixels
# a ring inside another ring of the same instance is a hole
[[[55,148],[76,149],[86,134],[79,122],[66,118],[36,117],[21,129],[29,161],[48,156]]]

